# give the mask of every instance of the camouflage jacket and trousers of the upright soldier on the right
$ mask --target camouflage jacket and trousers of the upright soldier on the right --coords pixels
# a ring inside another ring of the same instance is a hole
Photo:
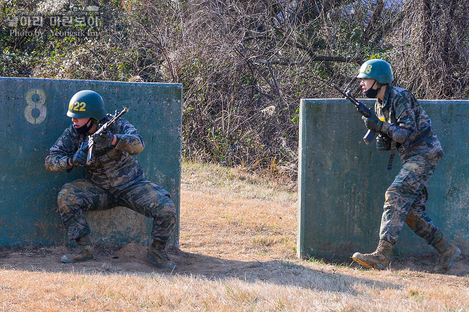
[[[385,193],[380,239],[396,243],[404,222],[430,245],[441,238],[425,213],[427,183],[443,156],[432,122],[410,91],[388,85],[375,112],[384,123],[381,132],[396,141],[403,167]]]

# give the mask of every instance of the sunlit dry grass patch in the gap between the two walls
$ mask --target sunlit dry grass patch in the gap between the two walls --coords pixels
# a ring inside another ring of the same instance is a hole
[[[215,165],[186,164],[182,175],[181,249],[224,258],[295,257],[290,184]]]

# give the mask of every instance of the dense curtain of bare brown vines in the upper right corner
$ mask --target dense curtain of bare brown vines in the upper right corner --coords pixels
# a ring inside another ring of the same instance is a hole
[[[467,98],[469,82],[469,3],[405,2],[391,55],[401,84],[420,98]]]

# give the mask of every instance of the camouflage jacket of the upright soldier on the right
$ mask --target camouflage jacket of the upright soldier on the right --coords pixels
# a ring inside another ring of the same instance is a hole
[[[383,100],[378,99],[375,104],[375,112],[381,121],[386,121],[381,131],[397,141],[403,163],[416,155],[443,156],[430,117],[410,91],[388,85]]]

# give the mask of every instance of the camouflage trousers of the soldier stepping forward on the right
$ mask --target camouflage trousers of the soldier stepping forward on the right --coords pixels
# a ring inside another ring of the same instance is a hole
[[[425,213],[425,202],[429,197],[427,183],[438,160],[417,155],[404,163],[385,193],[380,239],[395,244],[404,222],[429,245],[442,238],[440,229]]]

